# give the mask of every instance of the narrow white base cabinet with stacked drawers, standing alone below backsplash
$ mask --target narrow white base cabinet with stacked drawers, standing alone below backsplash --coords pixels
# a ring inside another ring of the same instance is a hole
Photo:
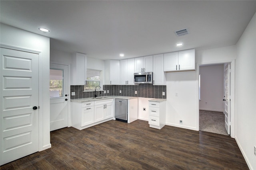
[[[149,102],[149,127],[156,129],[162,129],[165,125],[166,119],[166,101],[161,102]]]

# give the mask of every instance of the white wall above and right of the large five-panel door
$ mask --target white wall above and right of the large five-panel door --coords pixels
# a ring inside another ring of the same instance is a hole
[[[42,96],[39,99],[39,151],[50,144],[50,38],[1,23],[1,44],[42,52]],[[40,94],[40,93],[39,93]]]

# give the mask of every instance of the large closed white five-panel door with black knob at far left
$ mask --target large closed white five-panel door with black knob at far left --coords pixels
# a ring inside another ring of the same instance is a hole
[[[0,49],[1,165],[38,151],[38,54]]]

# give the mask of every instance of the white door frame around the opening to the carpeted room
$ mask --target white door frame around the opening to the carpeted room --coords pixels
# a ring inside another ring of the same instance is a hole
[[[196,129],[199,131],[199,66],[208,64],[225,64],[230,63],[230,137],[235,138],[235,59],[226,61],[212,61],[212,62],[202,62],[196,63],[196,82],[197,82],[197,93],[196,96]]]

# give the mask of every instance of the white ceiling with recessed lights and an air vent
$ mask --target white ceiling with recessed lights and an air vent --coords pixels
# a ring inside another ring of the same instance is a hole
[[[2,23],[50,37],[51,49],[103,60],[235,45],[256,12],[256,0],[1,0],[0,6]],[[184,28],[190,34],[174,34]]]

